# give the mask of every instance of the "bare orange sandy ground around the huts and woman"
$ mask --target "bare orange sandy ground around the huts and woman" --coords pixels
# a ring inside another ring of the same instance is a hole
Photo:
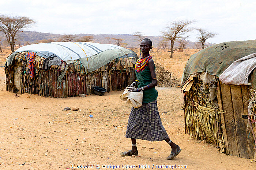
[[[174,70],[177,77],[181,77],[189,56],[180,59],[182,61],[175,56],[165,58],[156,60],[172,68],[180,62],[182,67]],[[172,141],[181,147],[181,153],[173,160],[166,160],[171,149],[165,141],[137,140],[141,157],[121,157],[121,151],[131,149],[131,140],[125,138],[131,107],[119,98],[123,91],[85,98],[57,99],[31,94],[16,98],[14,93],[5,90],[1,65],[0,169],[77,169],[75,165],[90,165],[92,169],[98,165],[99,169],[113,169],[103,165],[120,166],[114,169],[127,169],[131,165],[136,169],[143,169],[143,165],[144,169],[164,169],[159,165],[187,166],[187,169],[255,169],[256,162],[250,159],[225,155],[184,134],[181,90],[174,87],[157,87],[157,90],[162,123]],[[63,111],[64,107],[80,110]],[[90,114],[94,118],[89,118]]]

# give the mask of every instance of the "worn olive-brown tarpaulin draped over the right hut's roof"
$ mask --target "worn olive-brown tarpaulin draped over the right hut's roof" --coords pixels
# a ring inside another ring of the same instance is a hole
[[[206,71],[219,77],[234,61],[255,52],[256,40],[230,41],[204,48],[189,58],[182,74],[181,85],[197,72]]]

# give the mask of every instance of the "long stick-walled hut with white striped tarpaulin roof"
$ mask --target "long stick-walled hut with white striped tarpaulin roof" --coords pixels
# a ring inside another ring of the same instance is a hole
[[[7,57],[6,89],[57,98],[121,90],[135,80],[135,52],[113,44],[53,42],[20,47]]]

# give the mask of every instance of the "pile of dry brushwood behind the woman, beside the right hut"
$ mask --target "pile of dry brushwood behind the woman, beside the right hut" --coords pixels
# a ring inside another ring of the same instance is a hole
[[[161,86],[173,86],[180,88],[180,80],[174,77],[173,73],[166,70],[161,64],[155,62],[155,74],[157,75],[158,84]]]

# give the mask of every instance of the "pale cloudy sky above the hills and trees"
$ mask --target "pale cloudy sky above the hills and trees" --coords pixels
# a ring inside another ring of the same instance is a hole
[[[30,17],[25,30],[60,34],[133,34],[161,36],[174,20],[195,20],[192,28],[218,35],[222,43],[256,39],[255,0],[0,0],[0,14]],[[198,32],[188,40],[196,41]]]

